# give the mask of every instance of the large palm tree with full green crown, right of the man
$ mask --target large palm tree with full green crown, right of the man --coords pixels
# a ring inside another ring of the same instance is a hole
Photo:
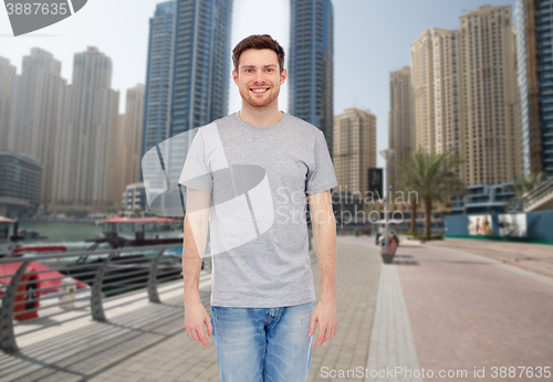
[[[407,160],[395,162],[398,170],[398,181],[405,191],[415,191],[425,206],[425,236],[431,235],[432,202],[438,201],[446,205],[451,194],[465,191],[465,182],[457,176],[455,169],[463,160],[455,151],[425,156],[421,152],[409,152]],[[404,191],[404,192],[405,192]],[[411,199],[411,229],[417,205]]]

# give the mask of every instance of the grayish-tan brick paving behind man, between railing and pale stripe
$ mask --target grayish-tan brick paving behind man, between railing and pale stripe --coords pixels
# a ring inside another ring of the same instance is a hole
[[[330,381],[324,370],[366,365],[379,272],[375,248],[338,244],[338,328],[332,341],[313,350],[309,381]],[[316,262],[313,274],[319,296]],[[210,280],[200,283],[200,294],[210,311]],[[143,296],[128,303],[128,311],[107,311],[106,323],[85,318],[54,327],[43,338],[19,341],[20,354],[0,354],[0,380],[219,381],[212,338],[210,348],[204,348],[184,330],[181,282],[165,287],[160,298],[160,305],[145,303]]]

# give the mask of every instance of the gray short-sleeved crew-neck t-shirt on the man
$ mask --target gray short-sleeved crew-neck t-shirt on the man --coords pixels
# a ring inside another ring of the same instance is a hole
[[[211,305],[315,300],[306,194],[337,185],[323,132],[284,113],[272,126],[238,113],[199,128],[179,183],[211,193]]]

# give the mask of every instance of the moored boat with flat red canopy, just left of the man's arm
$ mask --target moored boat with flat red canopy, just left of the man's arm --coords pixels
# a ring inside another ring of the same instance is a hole
[[[101,222],[102,235],[87,238],[87,251],[107,243],[112,248],[182,243],[184,222],[169,217],[112,217]]]

